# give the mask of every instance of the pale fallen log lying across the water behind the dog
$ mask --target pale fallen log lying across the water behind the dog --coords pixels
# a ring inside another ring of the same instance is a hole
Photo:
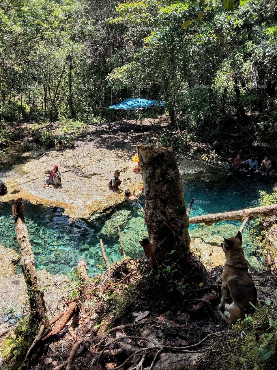
[[[259,217],[273,216],[277,213],[277,204],[270,206],[261,206],[254,208],[240,209],[239,211],[209,213],[208,215],[195,216],[190,218],[190,223],[205,223],[211,226],[215,222],[229,221],[229,220],[243,220],[245,218],[253,219]]]

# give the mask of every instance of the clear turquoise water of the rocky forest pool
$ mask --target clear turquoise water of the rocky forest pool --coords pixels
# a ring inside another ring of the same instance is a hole
[[[257,206],[259,190],[272,192],[274,179],[261,176],[248,178],[244,174],[226,176],[218,168],[211,168],[208,174],[199,173],[181,176],[187,205],[191,198],[196,198],[191,210],[191,217],[213,212],[232,211],[249,206]],[[127,205],[117,209],[109,219],[101,218],[98,222],[78,221],[69,226],[63,209],[45,208],[42,205],[26,203],[25,219],[35,255],[36,268],[46,269],[50,273],[68,274],[84,259],[88,274],[94,276],[104,266],[99,246],[103,239],[110,264],[122,258],[119,248],[117,225],[122,231],[122,240],[127,255],[137,257],[143,253],[139,241],[147,236],[146,226],[140,211],[138,215]],[[234,236],[240,222],[221,222],[213,226],[190,225],[192,237],[203,235]],[[252,243],[249,230],[244,229],[243,246],[250,256],[256,246]],[[11,217],[11,203],[0,202],[0,243],[8,248],[18,249]]]

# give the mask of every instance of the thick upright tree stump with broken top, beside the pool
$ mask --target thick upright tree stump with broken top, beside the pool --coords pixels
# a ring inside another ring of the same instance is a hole
[[[165,265],[167,253],[176,250],[171,262],[191,260],[188,220],[180,174],[173,149],[137,145],[145,193],[145,221],[153,259]]]

